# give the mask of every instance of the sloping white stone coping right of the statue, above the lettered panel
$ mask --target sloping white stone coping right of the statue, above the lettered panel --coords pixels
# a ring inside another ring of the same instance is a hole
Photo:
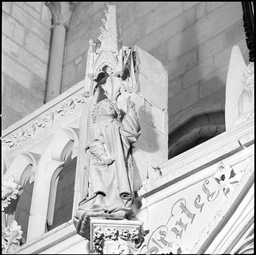
[[[247,147],[252,144],[254,144],[254,118],[159,165],[162,176],[143,185],[137,191],[137,195],[138,197],[150,196],[243,150],[243,146]]]

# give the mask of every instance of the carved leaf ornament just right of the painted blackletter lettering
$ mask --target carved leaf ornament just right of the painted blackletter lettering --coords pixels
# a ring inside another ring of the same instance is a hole
[[[242,170],[235,174],[234,169],[230,165],[226,166],[223,162],[220,162],[213,178],[219,185],[223,186],[223,192],[228,197],[231,189],[237,186],[242,174]]]

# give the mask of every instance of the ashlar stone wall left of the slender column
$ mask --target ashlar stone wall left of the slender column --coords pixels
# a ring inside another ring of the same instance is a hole
[[[2,130],[44,104],[51,16],[44,2],[2,2]]]

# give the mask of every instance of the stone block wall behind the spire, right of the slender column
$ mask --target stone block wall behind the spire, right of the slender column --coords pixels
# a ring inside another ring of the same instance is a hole
[[[111,4],[120,10],[123,45],[138,45],[167,66],[169,133],[204,110],[224,110],[225,96],[219,91],[225,91],[231,47],[238,44],[248,62],[240,2]],[[62,91],[84,75],[75,61],[83,56],[79,65],[85,66],[88,41],[97,39],[102,26],[93,16],[104,17],[102,10],[103,2],[82,2],[72,16]]]

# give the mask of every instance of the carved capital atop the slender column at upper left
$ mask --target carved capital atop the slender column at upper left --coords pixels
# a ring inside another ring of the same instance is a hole
[[[56,25],[62,24],[66,29],[69,29],[69,22],[75,6],[79,2],[44,2],[48,6],[53,15],[53,28]]]

